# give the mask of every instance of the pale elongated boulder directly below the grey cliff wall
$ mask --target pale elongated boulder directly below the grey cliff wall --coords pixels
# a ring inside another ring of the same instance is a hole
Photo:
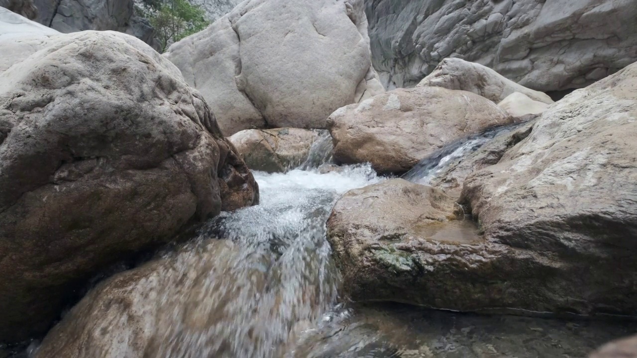
[[[488,98],[495,103],[519,92],[533,101],[551,104],[553,100],[543,92],[527,89],[496,71],[462,59],[444,59],[417,87],[436,86],[445,89],[466,90]]]

